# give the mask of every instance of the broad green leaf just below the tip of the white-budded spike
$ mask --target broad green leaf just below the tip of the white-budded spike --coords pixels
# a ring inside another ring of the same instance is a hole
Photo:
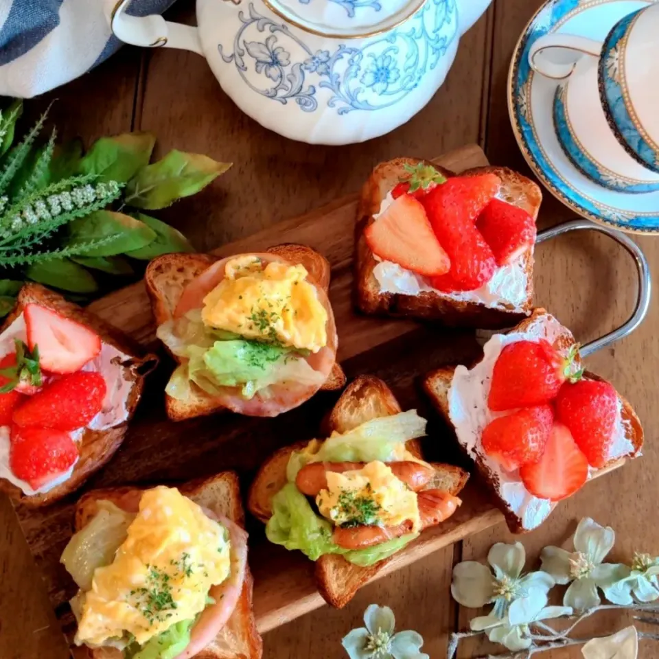
[[[83,256],[114,256],[145,247],[156,238],[156,232],[144,222],[123,213],[95,211],[69,223],[69,246],[99,238],[109,242],[80,251]]]

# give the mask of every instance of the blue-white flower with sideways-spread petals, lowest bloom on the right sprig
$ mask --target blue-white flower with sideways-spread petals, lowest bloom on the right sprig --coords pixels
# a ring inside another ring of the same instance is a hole
[[[570,616],[573,610],[569,606],[547,606],[546,591],[529,588],[527,594],[514,600],[504,618],[491,613],[480,616],[470,622],[474,632],[485,632],[493,643],[505,645],[510,651],[518,652],[531,646],[531,629],[529,625],[537,621]]]

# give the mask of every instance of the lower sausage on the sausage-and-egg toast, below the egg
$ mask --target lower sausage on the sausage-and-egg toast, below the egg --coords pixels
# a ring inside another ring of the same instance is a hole
[[[419,492],[417,500],[421,530],[435,527],[439,522],[448,520],[462,503],[459,498],[441,489],[427,489],[425,492]],[[412,520],[405,520],[395,527],[337,527],[334,529],[332,540],[334,544],[338,544],[344,549],[365,549],[411,533],[412,527]]]

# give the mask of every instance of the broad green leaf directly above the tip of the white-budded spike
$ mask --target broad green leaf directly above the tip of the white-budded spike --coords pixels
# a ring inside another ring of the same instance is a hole
[[[150,132],[126,132],[102,137],[80,161],[80,174],[99,174],[101,181],[126,183],[149,164],[156,143]]]

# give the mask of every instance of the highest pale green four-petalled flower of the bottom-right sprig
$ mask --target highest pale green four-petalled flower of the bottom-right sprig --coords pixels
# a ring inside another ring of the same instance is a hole
[[[540,554],[541,570],[550,574],[556,583],[570,583],[563,597],[565,606],[586,611],[601,603],[597,588],[606,599],[616,602],[616,588],[621,579],[629,576],[629,568],[621,563],[603,563],[611,551],[616,534],[611,527],[601,527],[590,517],[583,518],[575,531],[575,551],[560,547],[545,547]]]

